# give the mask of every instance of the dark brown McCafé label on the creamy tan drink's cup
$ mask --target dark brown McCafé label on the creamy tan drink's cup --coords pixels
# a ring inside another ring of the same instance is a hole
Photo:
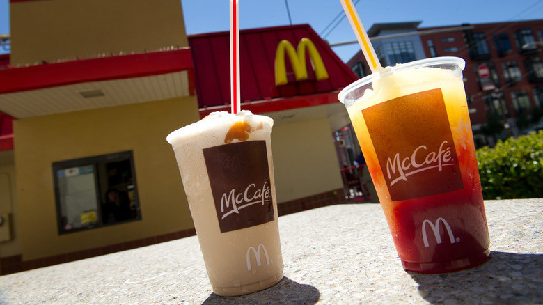
[[[274,220],[265,141],[203,150],[221,233]]]

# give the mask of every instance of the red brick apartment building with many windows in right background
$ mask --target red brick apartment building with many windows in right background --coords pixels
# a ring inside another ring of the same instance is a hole
[[[375,24],[368,35],[382,65],[422,58],[464,58],[464,82],[476,146],[519,136],[543,114],[543,19],[418,28]],[[368,74],[359,52],[347,65]]]

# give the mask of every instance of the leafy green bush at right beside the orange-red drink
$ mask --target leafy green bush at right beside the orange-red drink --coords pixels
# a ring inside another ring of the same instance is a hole
[[[543,197],[543,131],[477,150],[485,199]]]

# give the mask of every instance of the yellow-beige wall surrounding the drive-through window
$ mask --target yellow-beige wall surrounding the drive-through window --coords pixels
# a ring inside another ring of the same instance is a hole
[[[196,97],[26,118],[14,122],[23,260],[193,228],[166,135],[198,120]],[[141,221],[58,235],[52,162],[132,150]]]

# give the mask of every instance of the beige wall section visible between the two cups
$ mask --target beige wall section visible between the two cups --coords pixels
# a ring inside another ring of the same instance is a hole
[[[343,188],[328,118],[274,125],[277,202]]]

